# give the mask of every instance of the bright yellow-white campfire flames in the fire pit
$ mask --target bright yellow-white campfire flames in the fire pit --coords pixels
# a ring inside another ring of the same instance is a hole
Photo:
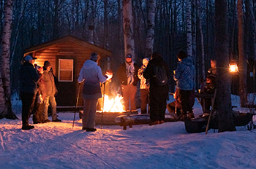
[[[103,96],[102,96],[103,98]],[[104,112],[124,112],[123,104],[121,100],[123,97],[121,95],[116,95],[116,98],[108,98],[108,95],[105,95],[104,98]]]

